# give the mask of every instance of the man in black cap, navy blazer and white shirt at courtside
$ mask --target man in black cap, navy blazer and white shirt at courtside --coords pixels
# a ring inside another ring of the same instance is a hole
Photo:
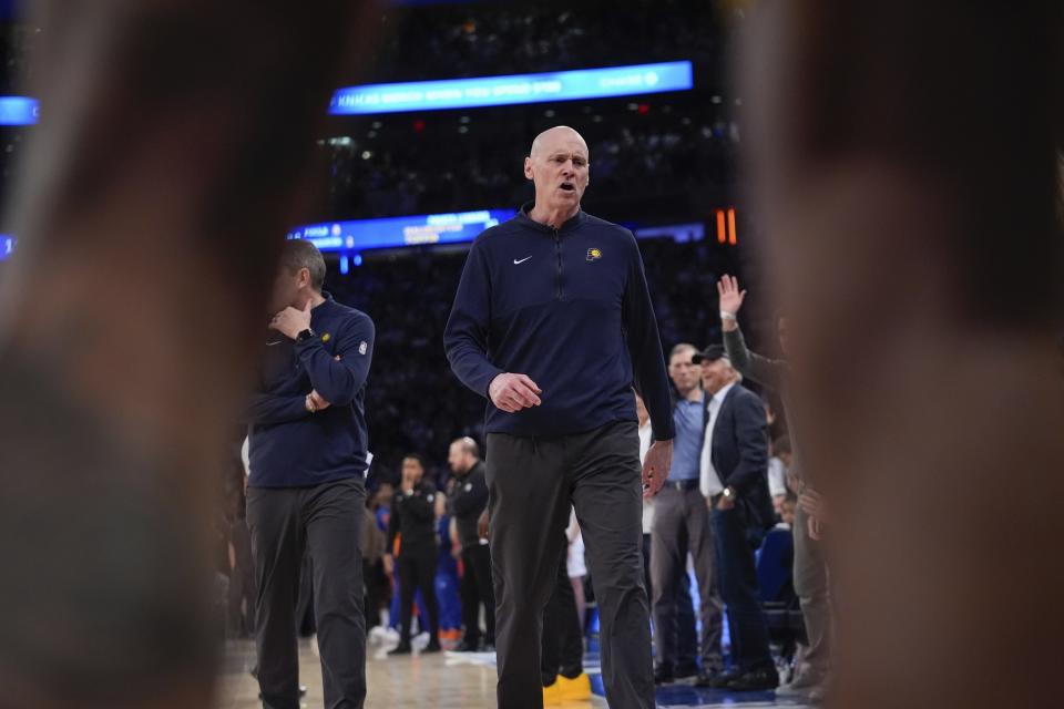
[[[758,603],[754,552],[773,525],[768,493],[768,424],[757,394],[719,345],[694,357],[710,397],[702,448],[700,486],[713,510],[720,595],[728,610],[734,667],[710,686],[734,691],[775,689],[779,676]]]

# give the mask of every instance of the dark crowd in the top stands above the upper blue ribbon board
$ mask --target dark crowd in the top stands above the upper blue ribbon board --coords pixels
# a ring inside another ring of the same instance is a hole
[[[392,8],[370,59],[379,81],[526,73],[673,59],[713,61],[728,3],[480,2]],[[594,28],[594,31],[589,31]],[[683,55],[676,52],[682,51]],[[604,58],[608,56],[608,60]]]

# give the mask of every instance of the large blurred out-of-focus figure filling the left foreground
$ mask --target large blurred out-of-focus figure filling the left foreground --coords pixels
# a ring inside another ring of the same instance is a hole
[[[0,286],[0,706],[209,706],[216,452],[355,7],[37,3]]]

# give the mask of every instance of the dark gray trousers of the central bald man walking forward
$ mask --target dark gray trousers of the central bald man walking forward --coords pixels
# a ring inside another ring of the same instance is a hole
[[[598,603],[602,679],[612,709],[652,709],[643,580],[643,486],[635,422],[555,438],[488,434],[500,709],[540,709],[543,608],[576,508]]]

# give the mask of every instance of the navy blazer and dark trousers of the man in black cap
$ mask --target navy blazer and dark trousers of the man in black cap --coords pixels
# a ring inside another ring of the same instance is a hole
[[[710,455],[720,483],[735,490],[737,499],[732,510],[714,505],[718,578],[727,605],[733,657],[738,671],[749,672],[773,666],[754,562],[754,552],[774,521],[768,493],[768,424],[760,397],[741,384],[735,384],[719,407]]]

